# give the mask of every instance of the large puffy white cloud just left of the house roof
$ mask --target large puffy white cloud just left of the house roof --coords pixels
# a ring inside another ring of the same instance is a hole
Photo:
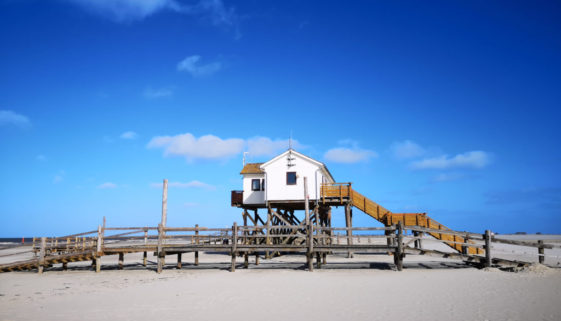
[[[243,139],[221,139],[214,135],[196,138],[190,133],[157,136],[152,138],[147,145],[147,148],[163,148],[164,156],[183,156],[188,161],[230,158],[241,153],[243,147]]]

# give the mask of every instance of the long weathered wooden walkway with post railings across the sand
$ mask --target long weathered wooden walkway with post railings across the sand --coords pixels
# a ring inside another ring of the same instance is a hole
[[[341,232],[352,232],[354,242]],[[408,233],[409,232],[409,233]],[[469,243],[450,241],[449,238],[423,238],[422,234],[447,233],[462,240],[469,239]],[[411,235],[413,236],[407,236]],[[471,254],[467,250],[461,253],[441,252],[424,249],[421,242],[434,241],[461,247],[476,247],[483,249],[485,255]],[[433,230],[420,226],[404,227],[402,222],[386,227],[353,227],[333,228],[314,225],[297,226],[237,226],[232,228],[205,227],[126,227],[104,228],[56,238],[34,239],[33,246],[28,249],[32,259],[11,262],[0,265],[0,272],[37,270],[42,273],[45,267],[62,264],[66,269],[69,263],[91,261],[96,272],[101,270],[102,256],[118,255],[119,266],[122,268],[124,255],[127,253],[143,253],[143,265],[147,264],[147,253],[158,257],[157,271],[160,273],[165,264],[166,255],[178,256],[178,267],[181,266],[181,255],[194,253],[195,265],[198,265],[199,252],[216,252],[231,255],[231,271],[236,269],[236,260],[242,257],[243,266],[249,264],[249,256],[255,255],[259,264],[259,254],[266,253],[266,257],[282,255],[284,253],[301,253],[305,258],[305,267],[313,271],[314,266],[321,268],[326,263],[328,255],[337,253],[385,253],[392,255],[396,270],[401,271],[406,254],[431,255],[451,259],[461,259],[480,266],[524,266],[529,262],[501,259],[491,256],[491,243],[506,243],[521,246],[531,246],[538,249],[540,262],[543,262],[543,250],[559,245],[544,244],[543,242],[522,242],[495,238],[490,232],[485,234]],[[14,249],[15,250],[15,249]],[[15,254],[24,254],[15,252]],[[2,256],[14,255],[7,254]],[[314,264],[315,258],[315,264]]]

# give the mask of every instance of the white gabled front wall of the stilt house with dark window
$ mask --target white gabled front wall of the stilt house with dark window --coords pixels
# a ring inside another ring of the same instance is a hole
[[[301,201],[304,200],[304,177],[308,177],[308,193],[310,199],[320,196],[323,174],[320,167],[305,158],[292,154],[294,166],[288,167],[286,157],[281,157],[264,168],[267,182],[266,198],[268,201]],[[286,184],[286,172],[296,172],[296,185]],[[251,189],[251,186],[249,186]],[[244,185],[244,190],[245,185]]]

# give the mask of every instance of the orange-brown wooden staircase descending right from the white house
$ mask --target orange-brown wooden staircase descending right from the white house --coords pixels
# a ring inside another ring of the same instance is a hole
[[[458,235],[438,233],[438,230],[449,231],[450,229],[428,217],[426,213],[392,213],[380,204],[352,189],[350,183],[323,185],[321,188],[321,195],[324,200],[339,199],[341,203],[349,202],[352,206],[368,214],[385,226],[403,222],[404,226],[420,226],[433,229],[435,231],[429,232],[428,234],[436,239],[449,241],[449,243],[445,244],[460,253],[462,252],[462,245],[455,242],[464,243],[465,239]],[[482,249],[475,247],[469,247],[466,251],[466,254],[484,254]]]

